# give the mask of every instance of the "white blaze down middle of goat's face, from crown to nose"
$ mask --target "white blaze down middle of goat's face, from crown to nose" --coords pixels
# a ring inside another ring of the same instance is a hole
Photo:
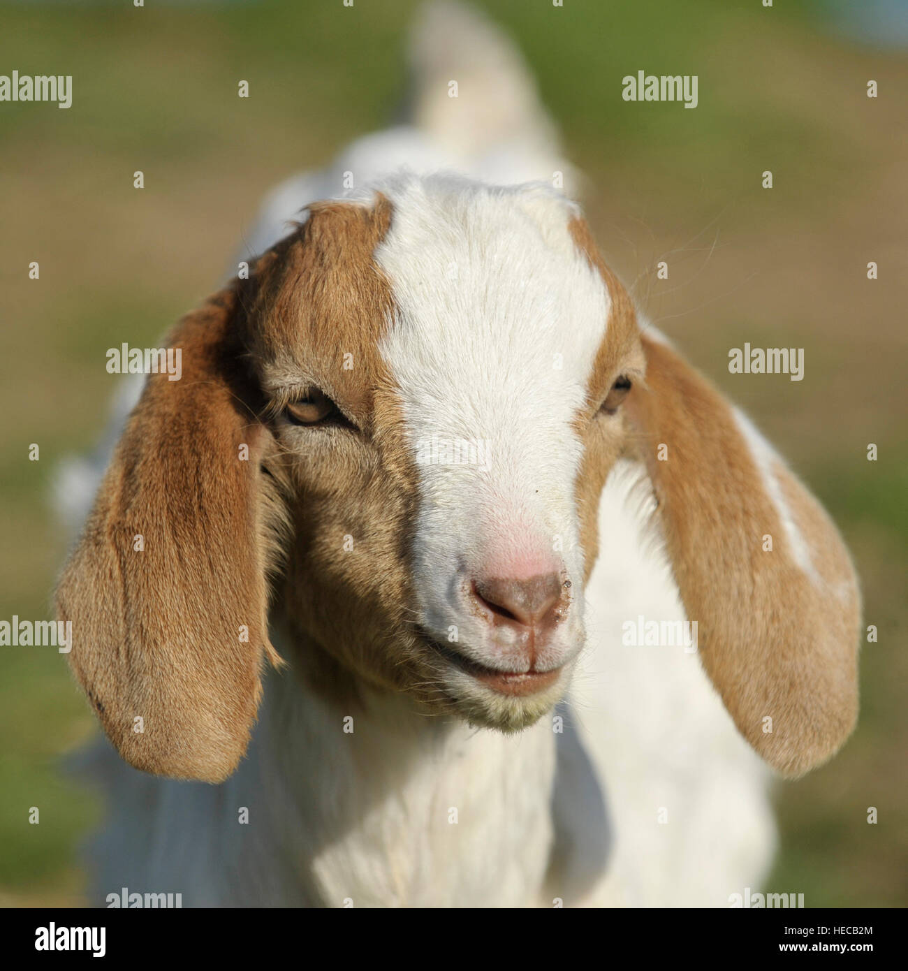
[[[558,573],[574,606],[546,650],[582,632],[575,479],[584,407],[610,300],[546,186],[405,177],[375,258],[397,307],[380,352],[399,386],[420,473],[422,622],[477,660],[507,652],[469,608],[475,578]],[[472,444],[472,448],[471,448]],[[545,660],[546,658],[543,658]]]

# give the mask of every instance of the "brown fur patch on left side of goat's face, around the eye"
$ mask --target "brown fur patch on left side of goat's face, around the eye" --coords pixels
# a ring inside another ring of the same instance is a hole
[[[310,685],[346,705],[365,676],[401,688],[426,682],[410,625],[410,541],[418,474],[399,395],[378,352],[393,312],[372,254],[392,206],[320,203],[280,254],[252,308],[261,321],[253,359],[262,384],[309,376],[362,434],[272,422],[264,459],[290,484],[293,543],[279,601]],[[329,438],[330,436],[330,438]]]

